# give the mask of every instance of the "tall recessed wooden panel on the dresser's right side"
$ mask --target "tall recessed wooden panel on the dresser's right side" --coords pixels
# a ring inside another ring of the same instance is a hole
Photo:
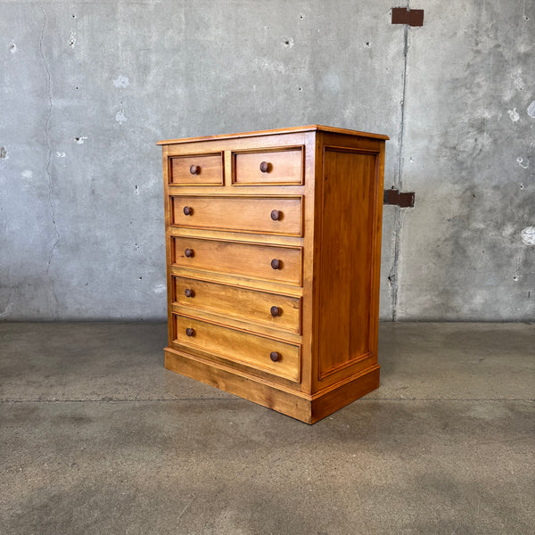
[[[377,154],[325,147],[319,379],[370,354]]]

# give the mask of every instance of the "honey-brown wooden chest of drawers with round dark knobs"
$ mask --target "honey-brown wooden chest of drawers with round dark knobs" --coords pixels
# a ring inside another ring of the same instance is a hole
[[[165,366],[308,424],[379,386],[387,136],[162,141]]]

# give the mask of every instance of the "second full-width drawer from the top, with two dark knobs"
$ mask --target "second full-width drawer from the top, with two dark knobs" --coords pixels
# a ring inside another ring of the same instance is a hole
[[[300,247],[171,236],[171,253],[180,268],[301,284]]]

